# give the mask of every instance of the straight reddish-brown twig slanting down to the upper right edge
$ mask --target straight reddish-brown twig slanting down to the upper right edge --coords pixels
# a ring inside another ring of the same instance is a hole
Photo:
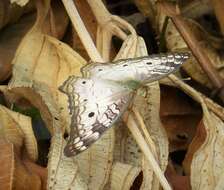
[[[176,7],[171,3],[160,2],[158,6],[161,11],[169,16],[176,26],[177,30],[180,32],[184,41],[188,44],[198,63],[207,74],[208,78],[211,80],[215,88],[219,91],[219,97],[224,102],[224,80],[219,75],[219,72],[213,67],[211,60],[206,55],[206,52],[199,45],[198,40],[193,34],[192,30],[189,28],[186,21],[178,13]]]

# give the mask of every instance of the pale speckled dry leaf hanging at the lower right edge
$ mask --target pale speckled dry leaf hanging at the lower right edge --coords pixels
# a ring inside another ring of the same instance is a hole
[[[217,185],[223,181],[224,123],[214,113],[204,109],[203,124],[206,131],[205,141],[196,152],[193,153],[191,152],[193,150],[189,149],[188,153],[193,154],[191,186],[193,189],[216,189]],[[198,143],[197,139],[194,143]]]

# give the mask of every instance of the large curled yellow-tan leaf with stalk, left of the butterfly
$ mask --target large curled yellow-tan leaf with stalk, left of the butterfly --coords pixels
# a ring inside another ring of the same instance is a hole
[[[47,3],[38,6],[36,23],[14,57],[9,88],[36,106],[52,131],[52,118],[69,123],[67,100],[58,87],[69,75],[79,75],[85,61],[66,44],[42,33],[42,28],[48,31],[43,22],[48,10]]]

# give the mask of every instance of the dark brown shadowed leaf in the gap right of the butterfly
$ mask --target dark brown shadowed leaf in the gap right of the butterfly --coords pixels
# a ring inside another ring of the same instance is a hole
[[[161,92],[160,117],[169,137],[169,151],[187,149],[202,117],[201,110],[175,88],[162,86]]]

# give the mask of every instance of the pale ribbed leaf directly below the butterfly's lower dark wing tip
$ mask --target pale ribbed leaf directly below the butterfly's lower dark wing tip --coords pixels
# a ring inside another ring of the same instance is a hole
[[[65,140],[61,131],[54,133],[48,161],[48,189],[87,190],[73,158],[64,155]]]

